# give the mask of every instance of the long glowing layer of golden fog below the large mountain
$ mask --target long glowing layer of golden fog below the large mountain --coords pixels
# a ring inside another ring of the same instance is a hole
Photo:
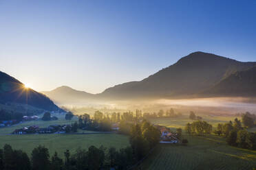
[[[215,97],[199,99],[143,99],[129,101],[86,101],[79,104],[65,104],[77,114],[83,112],[93,113],[95,110],[103,112],[125,112],[136,109],[142,112],[158,112],[174,108],[177,112],[188,114],[190,110],[201,114],[236,114],[241,112],[256,113],[256,102],[254,99],[242,97]]]

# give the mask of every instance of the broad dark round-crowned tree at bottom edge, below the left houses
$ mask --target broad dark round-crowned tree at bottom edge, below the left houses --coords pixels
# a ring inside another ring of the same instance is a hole
[[[32,150],[31,160],[33,170],[50,169],[49,151],[46,147],[39,145]]]

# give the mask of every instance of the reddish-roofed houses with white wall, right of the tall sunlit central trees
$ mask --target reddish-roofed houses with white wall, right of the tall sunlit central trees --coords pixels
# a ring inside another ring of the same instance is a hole
[[[155,125],[161,132],[161,143],[179,143],[178,134],[162,125]]]

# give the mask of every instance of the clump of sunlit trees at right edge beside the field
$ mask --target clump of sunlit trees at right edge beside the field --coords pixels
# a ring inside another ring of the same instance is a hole
[[[253,127],[254,117],[254,114],[246,112],[242,114],[242,122],[236,118],[228,123],[219,123],[214,133],[226,137],[228,145],[256,150],[256,132],[247,130]]]

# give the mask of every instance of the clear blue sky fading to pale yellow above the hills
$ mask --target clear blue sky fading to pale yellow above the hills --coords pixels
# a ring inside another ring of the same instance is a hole
[[[100,93],[193,51],[256,61],[256,0],[0,0],[0,71],[35,90]]]

